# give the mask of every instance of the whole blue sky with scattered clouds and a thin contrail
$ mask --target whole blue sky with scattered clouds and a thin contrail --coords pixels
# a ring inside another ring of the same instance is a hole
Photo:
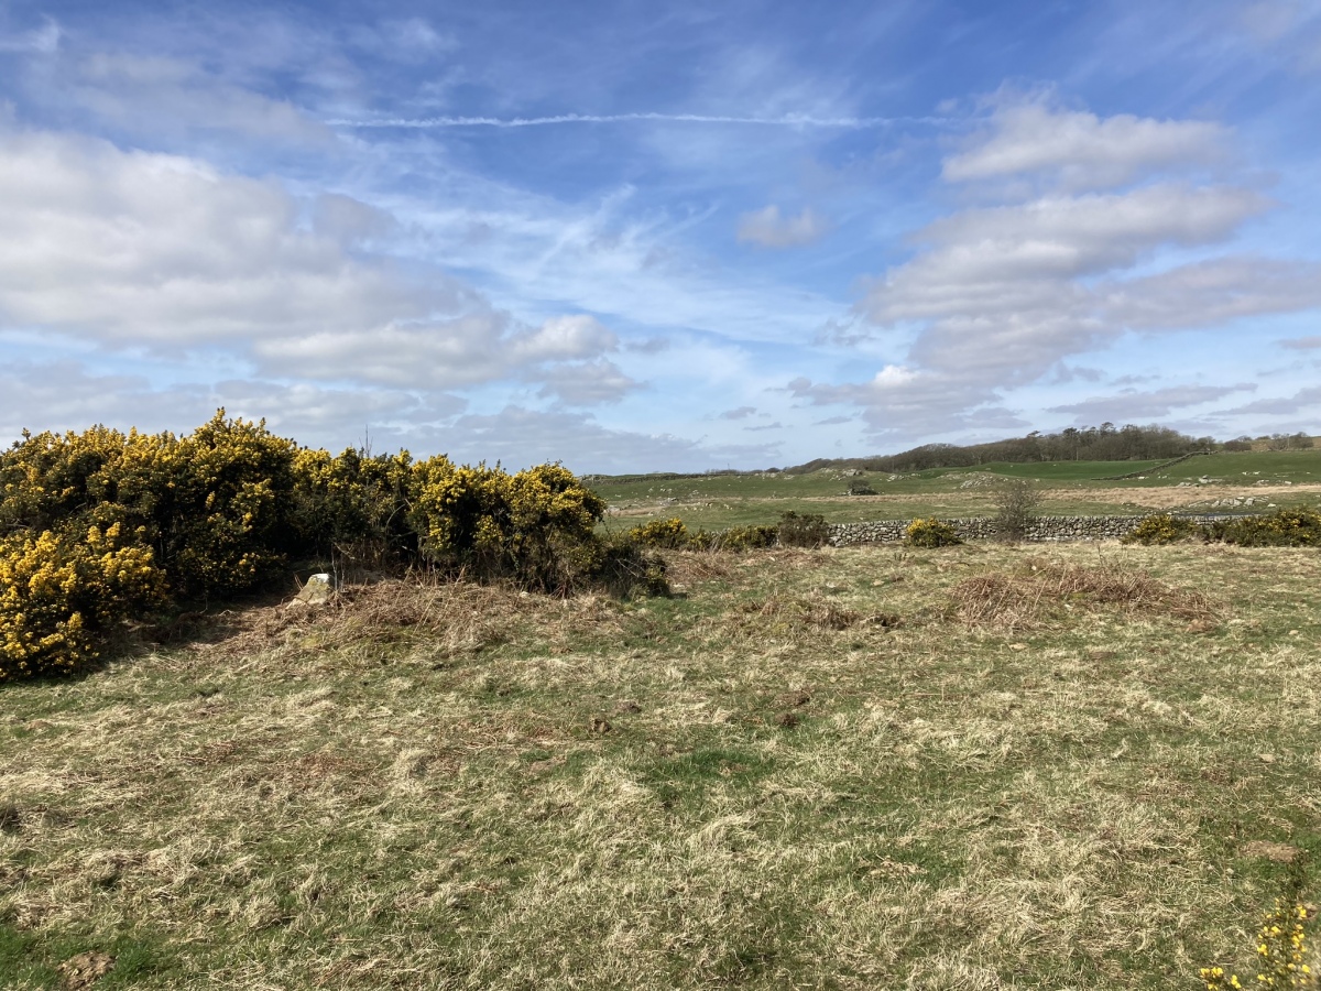
[[[1321,0],[0,0],[0,441],[1321,432]]]

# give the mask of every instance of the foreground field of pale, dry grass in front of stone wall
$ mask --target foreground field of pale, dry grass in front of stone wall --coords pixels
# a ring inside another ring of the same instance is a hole
[[[254,605],[5,687],[0,986],[1196,988],[1316,897],[1314,550],[672,576]]]

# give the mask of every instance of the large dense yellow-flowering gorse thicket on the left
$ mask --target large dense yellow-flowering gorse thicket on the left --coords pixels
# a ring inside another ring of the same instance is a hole
[[[604,513],[559,465],[333,456],[223,410],[182,437],[24,433],[0,452],[0,679],[77,670],[125,620],[255,589],[292,560],[664,591],[662,564],[596,534]]]

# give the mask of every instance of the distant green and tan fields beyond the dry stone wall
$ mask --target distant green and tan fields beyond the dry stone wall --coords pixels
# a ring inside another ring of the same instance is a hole
[[[835,470],[804,476],[742,474],[658,480],[645,476],[597,478],[594,488],[614,507],[612,526],[678,517],[691,529],[717,530],[749,523],[774,523],[781,513],[820,513],[832,523],[865,519],[911,519],[993,515],[992,489],[997,478],[1040,482],[1042,513],[1106,515],[1169,509],[1209,509],[1209,503],[1239,495],[1279,506],[1321,499],[1321,449],[1300,452],[1242,452],[1192,457],[1144,478],[1100,481],[1128,474],[1160,461],[1061,461],[1049,464],[987,464],[978,468],[937,468],[926,472],[868,472],[844,477]],[[1199,485],[1201,478],[1210,478]],[[865,481],[876,495],[847,495],[851,482]]]

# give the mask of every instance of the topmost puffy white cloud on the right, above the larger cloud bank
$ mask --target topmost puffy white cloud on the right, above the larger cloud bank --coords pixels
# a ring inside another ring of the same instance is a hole
[[[1201,120],[1155,120],[1131,114],[1100,119],[1045,99],[1009,94],[991,131],[945,161],[950,182],[1037,174],[1065,189],[1108,189],[1140,176],[1223,159],[1230,132]]]

